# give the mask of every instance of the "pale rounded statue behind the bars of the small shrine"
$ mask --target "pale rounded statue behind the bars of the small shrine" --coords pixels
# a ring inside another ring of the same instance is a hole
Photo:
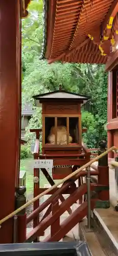
[[[55,126],[51,128],[50,134],[48,136],[48,141],[50,144],[55,144],[55,134],[57,132],[57,144],[66,145],[67,144],[67,130],[66,127],[62,125],[61,119],[57,121],[57,131]],[[69,143],[72,143],[73,138],[69,135]]]

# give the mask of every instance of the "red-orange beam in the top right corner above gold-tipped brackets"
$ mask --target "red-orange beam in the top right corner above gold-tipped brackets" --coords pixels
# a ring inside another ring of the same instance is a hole
[[[114,0],[109,11],[107,12],[107,15],[105,16],[105,19],[102,22],[102,29],[103,31],[106,29],[107,27],[107,23],[109,21],[110,17],[114,17],[116,15],[116,13],[118,12],[118,2],[117,0]]]

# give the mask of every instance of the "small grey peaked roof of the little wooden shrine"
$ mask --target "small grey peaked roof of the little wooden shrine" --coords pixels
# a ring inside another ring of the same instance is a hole
[[[72,92],[66,92],[64,90],[58,90],[50,93],[44,93],[33,96],[34,99],[75,99],[75,100],[88,100],[89,96],[83,94],[77,94]]]

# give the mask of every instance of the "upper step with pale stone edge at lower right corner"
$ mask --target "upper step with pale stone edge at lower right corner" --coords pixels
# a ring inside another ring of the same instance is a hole
[[[118,218],[111,206],[108,209],[94,209],[92,226],[106,251],[106,255],[118,255]]]

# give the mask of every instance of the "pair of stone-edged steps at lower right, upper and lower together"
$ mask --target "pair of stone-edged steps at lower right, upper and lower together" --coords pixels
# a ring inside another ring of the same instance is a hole
[[[94,209],[91,217],[91,231],[87,219],[79,224],[80,240],[85,240],[92,256],[118,255],[118,218],[113,207]]]

